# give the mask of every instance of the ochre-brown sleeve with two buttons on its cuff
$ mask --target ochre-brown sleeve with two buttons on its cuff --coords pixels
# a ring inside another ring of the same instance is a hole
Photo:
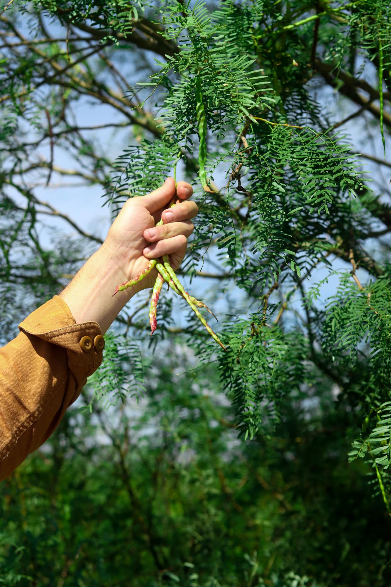
[[[18,328],[0,348],[0,481],[49,438],[103,359],[99,324],[76,324],[57,295]],[[95,344],[80,346],[84,336]]]

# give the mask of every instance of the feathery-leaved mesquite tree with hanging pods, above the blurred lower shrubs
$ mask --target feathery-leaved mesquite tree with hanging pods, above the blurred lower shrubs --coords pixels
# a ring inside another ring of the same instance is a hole
[[[36,195],[37,178],[39,189],[58,174],[102,185],[114,217],[126,198],[181,174],[200,208],[181,272],[194,278],[192,287],[215,279],[228,301],[222,312],[215,296],[213,338],[190,316],[184,328],[173,324],[172,309],[187,302],[205,325],[203,303],[169,259],[156,259],[151,344],[180,335],[197,355],[196,372],[217,362],[244,438],[277,425],[284,404],[314,399],[326,384],[354,414],[350,458],[373,464],[390,511],[391,212],[377,172],[391,167],[383,158],[391,129],[389,2],[14,0],[0,24],[4,332],[31,300],[58,292],[86,254],[85,241],[100,241],[65,217],[84,240],[43,248],[39,215],[59,211]],[[138,83],[125,71],[135,56]],[[73,117],[85,96],[120,115],[93,130],[132,130],[116,160]],[[381,154],[360,152],[371,141]],[[76,169],[59,166],[57,151],[75,158]],[[376,173],[365,173],[365,161]],[[215,271],[203,271],[204,262]],[[143,302],[119,316],[121,345],[132,353],[107,353],[106,377],[95,378],[100,396],[111,373],[121,397],[131,382],[142,386],[144,315]]]

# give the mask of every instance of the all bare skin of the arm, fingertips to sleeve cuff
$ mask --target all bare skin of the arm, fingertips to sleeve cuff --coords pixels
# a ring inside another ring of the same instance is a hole
[[[177,204],[164,210],[175,193]],[[186,253],[187,237],[194,230],[191,219],[198,212],[197,204],[188,201],[192,194],[193,188],[185,181],[178,181],[175,192],[174,179],[168,177],[157,190],[126,201],[105,242],[59,294],[76,323],[97,322],[104,334],[134,294],[153,287],[156,269],[112,297],[116,285],[134,278],[149,259],[170,255],[176,271]],[[161,217],[164,224],[155,228]]]

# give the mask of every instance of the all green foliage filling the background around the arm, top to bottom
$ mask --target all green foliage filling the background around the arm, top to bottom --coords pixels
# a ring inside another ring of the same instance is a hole
[[[2,342],[102,242],[41,194],[99,187],[113,218],[175,167],[228,351],[171,293],[152,339],[147,295],[124,309],[85,410],[0,488],[0,582],[390,584],[390,25],[386,0],[5,7]],[[43,244],[48,217],[74,234]]]

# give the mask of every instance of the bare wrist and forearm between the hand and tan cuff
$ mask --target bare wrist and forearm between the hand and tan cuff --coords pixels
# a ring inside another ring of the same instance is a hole
[[[68,305],[76,324],[97,322],[104,335],[123,306],[134,295],[133,288],[129,288],[121,292],[121,295],[113,297],[116,285],[127,279],[114,255],[100,247],[59,296]]]

